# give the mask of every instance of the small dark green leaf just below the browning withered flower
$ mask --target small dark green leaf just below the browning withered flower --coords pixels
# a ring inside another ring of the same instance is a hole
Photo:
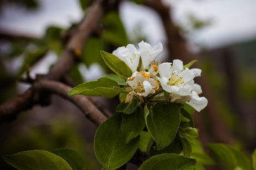
[[[131,114],[137,109],[138,103],[139,101],[137,98],[133,98],[130,103],[124,103],[123,101],[117,106],[116,111],[119,113]]]

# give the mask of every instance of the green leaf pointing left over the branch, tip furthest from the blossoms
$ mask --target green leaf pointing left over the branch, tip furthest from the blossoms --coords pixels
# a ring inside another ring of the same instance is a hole
[[[107,98],[113,98],[121,93],[122,88],[119,88],[116,81],[101,77],[94,81],[88,81],[86,83],[75,86],[70,92],[69,96],[75,94],[82,94],[85,96],[102,96]]]

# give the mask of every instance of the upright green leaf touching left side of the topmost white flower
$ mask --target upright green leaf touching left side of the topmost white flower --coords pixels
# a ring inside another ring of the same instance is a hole
[[[127,79],[132,76],[132,70],[117,56],[104,51],[100,51],[100,54],[107,66],[110,67],[115,74],[119,75],[119,77]]]

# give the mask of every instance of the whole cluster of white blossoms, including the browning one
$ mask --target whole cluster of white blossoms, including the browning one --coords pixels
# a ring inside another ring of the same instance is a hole
[[[198,96],[202,89],[193,81],[195,77],[201,76],[201,69],[184,68],[181,60],[156,63],[155,59],[162,51],[161,42],[151,48],[151,45],[144,41],[139,42],[139,50],[132,44],[114,50],[113,55],[124,61],[133,72],[132,77],[127,79],[127,84],[132,90],[127,94],[125,102],[131,102],[134,96],[142,99],[163,90],[168,92],[167,100],[174,103],[186,102],[196,111],[201,111],[208,101],[205,97]],[[137,70],[140,58],[142,70]]]

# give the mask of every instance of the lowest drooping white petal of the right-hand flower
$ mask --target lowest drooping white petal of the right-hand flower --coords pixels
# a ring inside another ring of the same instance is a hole
[[[199,112],[207,106],[208,100],[205,97],[199,97],[196,91],[192,91],[191,100],[186,103]]]

